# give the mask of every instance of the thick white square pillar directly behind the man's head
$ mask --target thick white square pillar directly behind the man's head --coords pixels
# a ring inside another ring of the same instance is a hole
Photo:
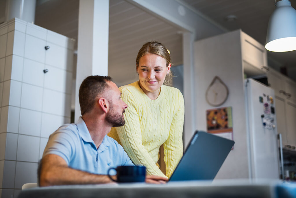
[[[108,75],[109,0],[79,1],[75,121],[81,115],[78,91],[87,76]]]

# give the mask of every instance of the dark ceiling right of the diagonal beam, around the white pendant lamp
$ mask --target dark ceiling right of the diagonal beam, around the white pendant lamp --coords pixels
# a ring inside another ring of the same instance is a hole
[[[275,9],[274,0],[182,0],[198,12],[210,17],[229,31],[242,29],[265,45],[269,18]],[[279,1],[279,0],[276,0]],[[291,0],[296,9],[296,0]],[[235,15],[237,20],[227,22],[225,17]],[[295,24],[294,24],[295,25]],[[269,64],[287,67],[288,74],[296,81],[296,50],[292,52],[268,51]],[[278,62],[277,64],[274,62]]]

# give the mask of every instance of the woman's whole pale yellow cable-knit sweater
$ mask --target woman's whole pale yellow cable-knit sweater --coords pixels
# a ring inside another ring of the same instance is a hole
[[[184,99],[181,92],[161,86],[151,100],[134,82],[119,88],[126,124],[113,127],[108,135],[120,143],[135,165],[144,165],[148,175],[165,175],[159,169],[159,147],[164,144],[166,177],[170,178],[183,155]]]

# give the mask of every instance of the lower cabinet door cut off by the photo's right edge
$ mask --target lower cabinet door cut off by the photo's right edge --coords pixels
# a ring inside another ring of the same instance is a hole
[[[286,102],[287,120],[287,142],[291,146],[296,146],[296,104]]]

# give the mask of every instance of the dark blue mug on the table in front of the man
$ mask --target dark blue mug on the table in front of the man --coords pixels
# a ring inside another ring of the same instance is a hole
[[[117,172],[117,180],[110,176],[110,170]],[[145,182],[146,167],[144,166],[118,166],[117,168],[109,168],[108,176],[112,181],[119,183],[127,182]]]

